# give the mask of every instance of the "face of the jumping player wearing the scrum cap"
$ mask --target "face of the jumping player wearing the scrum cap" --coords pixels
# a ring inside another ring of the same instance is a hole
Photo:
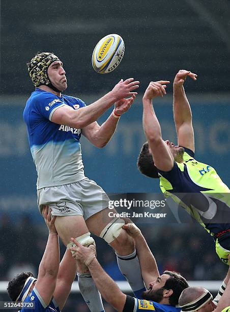
[[[66,72],[61,61],[53,62],[47,70],[49,80],[57,90],[63,91],[67,88]]]

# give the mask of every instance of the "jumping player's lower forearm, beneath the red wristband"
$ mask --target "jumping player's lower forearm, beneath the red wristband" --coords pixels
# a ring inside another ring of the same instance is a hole
[[[111,139],[117,128],[119,118],[114,118],[111,114],[108,119],[100,126],[96,121],[82,129],[82,134],[93,145],[104,147]]]

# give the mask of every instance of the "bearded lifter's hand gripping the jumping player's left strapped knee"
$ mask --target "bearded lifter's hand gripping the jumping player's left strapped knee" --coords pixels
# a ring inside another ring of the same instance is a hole
[[[73,257],[88,267],[96,257],[96,247],[94,245],[84,247],[74,238],[71,238],[71,241],[76,244],[76,247],[70,247],[70,250],[74,251]]]

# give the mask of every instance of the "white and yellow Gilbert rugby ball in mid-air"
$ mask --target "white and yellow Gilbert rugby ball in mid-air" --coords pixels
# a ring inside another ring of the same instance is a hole
[[[125,53],[125,44],[121,36],[112,34],[103,37],[95,46],[92,65],[98,73],[113,71],[121,63]]]

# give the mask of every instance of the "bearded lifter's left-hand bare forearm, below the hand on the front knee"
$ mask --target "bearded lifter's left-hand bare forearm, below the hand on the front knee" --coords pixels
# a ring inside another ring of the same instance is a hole
[[[102,269],[95,257],[89,265],[90,273],[102,297],[119,312],[123,311],[126,295],[121,292],[118,285]]]

